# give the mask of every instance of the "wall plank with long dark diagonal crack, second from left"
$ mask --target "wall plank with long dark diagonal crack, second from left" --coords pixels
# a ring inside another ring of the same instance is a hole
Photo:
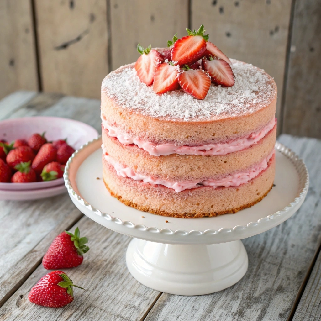
[[[108,73],[105,0],[35,0],[44,91],[100,98]]]

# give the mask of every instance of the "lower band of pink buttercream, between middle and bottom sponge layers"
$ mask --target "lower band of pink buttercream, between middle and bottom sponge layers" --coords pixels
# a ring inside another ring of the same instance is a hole
[[[201,186],[212,186],[216,188],[220,186],[224,186],[224,187],[239,186],[241,184],[247,183],[248,181],[255,178],[257,175],[259,175],[263,170],[265,170],[268,167],[269,160],[272,158],[272,156],[275,153],[273,149],[273,151],[266,158],[264,158],[259,164],[257,164],[256,166],[254,166],[253,168],[245,172],[235,173],[221,179],[209,179],[201,182],[184,181],[184,182],[178,183],[178,182],[169,181],[166,179],[158,179],[158,178],[153,178],[151,176],[138,174],[133,169],[123,164],[120,164],[119,162],[117,162],[117,160],[109,156],[104,148],[103,148],[103,152],[105,155],[105,160],[107,160],[108,163],[111,164],[114,167],[114,169],[116,169],[118,176],[129,177],[137,181],[144,181],[145,183],[163,185],[174,189],[175,192],[181,192],[185,189],[196,188]]]

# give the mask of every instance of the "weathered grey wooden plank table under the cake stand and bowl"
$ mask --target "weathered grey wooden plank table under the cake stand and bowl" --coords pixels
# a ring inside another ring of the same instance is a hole
[[[0,119],[46,115],[100,127],[100,101],[19,91],[0,101]],[[249,257],[245,276],[209,295],[177,296],[137,282],[125,263],[130,238],[91,221],[67,193],[38,201],[0,201],[0,320],[320,320],[321,142],[281,135],[279,141],[305,161],[310,188],[289,220],[243,240]],[[74,301],[45,308],[28,300],[48,273],[41,264],[52,240],[79,227],[89,238],[82,265],[64,271],[75,284]]]

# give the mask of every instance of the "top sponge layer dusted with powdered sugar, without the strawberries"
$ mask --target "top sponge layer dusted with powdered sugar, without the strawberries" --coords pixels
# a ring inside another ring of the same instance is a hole
[[[235,85],[211,85],[204,100],[181,90],[157,95],[133,65],[110,73],[101,88],[102,119],[132,139],[199,146],[256,133],[275,117],[276,85],[263,70],[232,60]]]

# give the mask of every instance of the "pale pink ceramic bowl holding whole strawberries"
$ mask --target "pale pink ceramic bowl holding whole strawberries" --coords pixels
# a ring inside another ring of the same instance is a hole
[[[43,132],[46,132],[45,137],[48,141],[67,138],[67,143],[74,147],[74,149],[78,149],[84,143],[98,136],[97,130],[93,127],[68,118],[37,116],[13,118],[0,122],[0,140],[5,139],[8,142],[19,138],[28,139],[33,133],[41,134]],[[49,188],[63,184],[64,178],[58,178],[48,182],[0,183],[0,199],[11,199],[9,197],[10,193],[5,193],[7,197],[4,195],[4,197],[1,197],[1,191],[20,191],[20,193],[23,193],[23,191],[26,190],[37,190],[36,194],[38,195],[41,193],[41,189],[45,189],[46,191],[44,191],[44,193],[47,195]]]

